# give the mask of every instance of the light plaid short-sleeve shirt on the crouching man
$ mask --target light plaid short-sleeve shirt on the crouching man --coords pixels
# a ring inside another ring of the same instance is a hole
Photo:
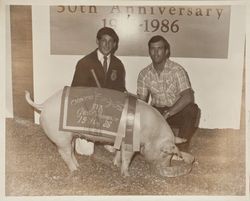
[[[167,59],[163,71],[158,75],[151,63],[137,79],[137,95],[146,100],[151,95],[151,105],[171,107],[180,98],[180,93],[191,88],[187,72],[179,64]]]

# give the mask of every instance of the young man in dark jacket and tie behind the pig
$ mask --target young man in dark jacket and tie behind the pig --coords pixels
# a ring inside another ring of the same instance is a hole
[[[113,29],[101,28],[96,36],[98,48],[78,61],[71,86],[97,87],[91,72],[94,70],[100,87],[126,91],[124,66],[114,56],[118,42],[119,38]]]

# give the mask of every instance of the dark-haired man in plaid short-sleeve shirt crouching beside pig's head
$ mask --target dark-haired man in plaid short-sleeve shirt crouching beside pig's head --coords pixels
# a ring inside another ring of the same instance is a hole
[[[187,139],[179,146],[187,151],[200,113],[194,103],[188,74],[182,66],[169,59],[170,45],[164,37],[152,37],[148,48],[152,63],[138,75],[138,98],[148,102],[151,96],[151,105],[164,116],[171,128],[179,129],[179,137]]]

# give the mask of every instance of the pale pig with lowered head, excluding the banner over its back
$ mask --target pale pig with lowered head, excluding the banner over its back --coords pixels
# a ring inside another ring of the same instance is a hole
[[[59,90],[49,97],[44,103],[37,104],[32,101],[30,93],[25,91],[26,101],[38,112],[40,112],[40,125],[48,138],[57,146],[58,152],[67,164],[71,172],[79,168],[79,164],[75,157],[74,139],[77,133],[59,130],[61,96],[63,90]],[[187,153],[179,151],[177,143],[183,143],[186,140],[174,136],[170,126],[164,117],[149,104],[137,100],[136,112],[140,113],[140,153],[145,160],[154,164],[160,175],[162,176],[180,176],[190,172],[190,166],[180,171],[180,168],[171,167],[171,159],[174,155],[184,157],[184,161],[189,164],[193,159]],[[92,142],[101,142],[103,144],[112,144],[112,140],[102,139],[98,136],[84,134],[84,138]],[[114,165],[120,167],[122,176],[129,176],[129,165],[133,151],[128,151],[121,144],[120,150],[116,152],[114,157]],[[166,169],[167,168],[167,169]],[[163,170],[162,170],[163,169]]]

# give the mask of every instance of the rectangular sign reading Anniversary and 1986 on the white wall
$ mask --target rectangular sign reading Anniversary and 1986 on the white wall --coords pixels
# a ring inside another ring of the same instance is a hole
[[[97,31],[112,27],[118,56],[147,56],[147,42],[163,35],[174,57],[227,58],[230,6],[51,6],[51,54],[85,55]]]

